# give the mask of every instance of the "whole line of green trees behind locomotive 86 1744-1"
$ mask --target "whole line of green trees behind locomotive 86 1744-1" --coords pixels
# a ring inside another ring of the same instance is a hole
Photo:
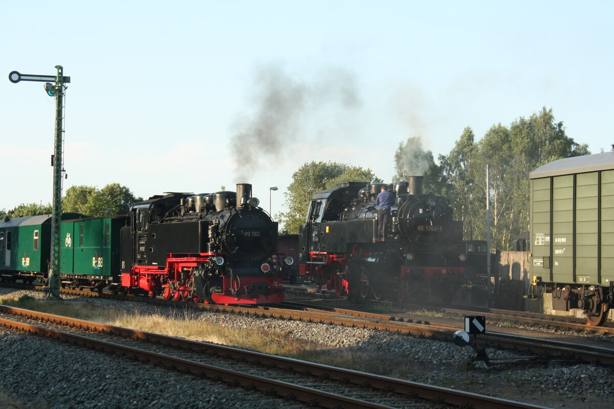
[[[491,205],[492,248],[511,250],[512,240],[529,229],[529,173],[543,164],[570,156],[589,155],[588,145],[565,134],[562,121],[543,107],[509,126],[494,124],[479,140],[467,126],[448,155],[437,163],[422,149],[420,137],[398,144],[391,182],[424,176],[423,191],[451,200],[454,219],[464,222],[465,240],[486,240],[486,195]],[[486,189],[486,165],[490,189]],[[337,162],[311,162],[293,175],[285,195],[286,212],[276,215],[283,232],[297,233],[305,223],[313,194],[336,182],[381,182],[370,169]]]

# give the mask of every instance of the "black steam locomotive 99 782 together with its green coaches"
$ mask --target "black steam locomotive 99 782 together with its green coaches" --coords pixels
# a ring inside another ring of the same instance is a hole
[[[61,284],[219,304],[280,302],[281,268],[272,261],[278,226],[258,204],[251,185],[241,183],[236,193],[169,193],[134,204],[127,216],[63,221]],[[47,280],[44,262],[20,265],[18,254],[33,251],[27,237],[37,236],[14,224],[0,223],[2,277]],[[37,251],[37,259],[49,259],[49,245]]]

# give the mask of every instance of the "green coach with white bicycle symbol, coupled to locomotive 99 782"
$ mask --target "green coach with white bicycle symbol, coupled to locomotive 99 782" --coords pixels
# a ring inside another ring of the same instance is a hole
[[[69,220],[62,223],[60,264],[63,281],[115,282],[120,272],[120,229],[126,216]]]

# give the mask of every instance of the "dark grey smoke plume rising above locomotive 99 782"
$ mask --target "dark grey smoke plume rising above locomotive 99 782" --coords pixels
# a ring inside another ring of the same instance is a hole
[[[244,180],[265,161],[282,161],[284,148],[301,138],[318,112],[352,110],[360,105],[354,75],[343,69],[319,72],[312,80],[298,80],[279,66],[264,66],[254,75],[251,113],[238,116],[231,148],[235,174]],[[312,126],[313,128],[313,126]]]

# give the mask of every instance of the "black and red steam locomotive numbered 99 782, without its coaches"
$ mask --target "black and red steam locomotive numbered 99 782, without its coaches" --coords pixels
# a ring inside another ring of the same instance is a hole
[[[123,289],[218,304],[281,302],[282,277],[271,261],[278,224],[258,207],[251,185],[236,189],[134,204],[121,231]]]

